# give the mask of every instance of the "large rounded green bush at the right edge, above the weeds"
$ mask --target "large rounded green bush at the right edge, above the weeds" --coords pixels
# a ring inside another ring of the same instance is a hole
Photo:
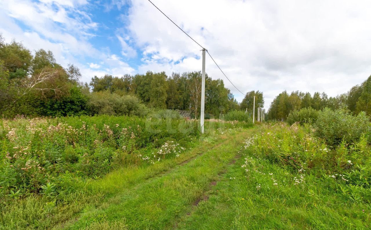
[[[346,108],[325,108],[318,113],[314,126],[316,136],[323,138],[329,145],[337,145],[342,141],[351,144],[369,131],[370,120],[365,112],[354,116]]]

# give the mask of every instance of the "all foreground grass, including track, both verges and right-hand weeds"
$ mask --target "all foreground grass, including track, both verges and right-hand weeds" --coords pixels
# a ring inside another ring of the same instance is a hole
[[[59,199],[13,200],[0,229],[370,229],[367,138],[331,147],[308,125],[213,130],[178,138],[187,149],[155,164],[66,172]]]

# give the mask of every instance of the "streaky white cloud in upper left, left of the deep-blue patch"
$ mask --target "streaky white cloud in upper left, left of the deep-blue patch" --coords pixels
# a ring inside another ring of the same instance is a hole
[[[81,70],[83,82],[106,73],[134,73],[120,57],[112,58],[109,50],[99,51],[89,42],[99,24],[84,11],[85,4],[85,0],[0,0],[0,10],[4,12],[0,14],[0,33],[7,42],[14,38],[33,49],[32,52],[40,48],[51,50],[64,67],[75,64]],[[19,22],[30,29],[22,29]],[[83,65],[85,58],[95,59],[99,65]],[[102,66],[108,70],[97,70]]]

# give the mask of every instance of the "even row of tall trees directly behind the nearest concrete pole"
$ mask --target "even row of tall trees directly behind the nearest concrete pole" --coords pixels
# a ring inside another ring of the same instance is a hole
[[[205,112],[219,117],[239,105],[229,89],[225,88],[220,79],[205,77]],[[168,108],[191,110],[194,116],[200,112],[201,104],[201,72],[173,73],[165,72],[134,76],[124,75],[121,78],[105,75],[94,76],[89,84],[92,92],[109,91],[119,95],[131,94],[151,108]]]

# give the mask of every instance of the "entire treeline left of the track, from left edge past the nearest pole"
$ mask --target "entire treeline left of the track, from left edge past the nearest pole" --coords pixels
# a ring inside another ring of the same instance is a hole
[[[145,115],[150,109],[193,111],[201,104],[201,72],[165,72],[93,76],[82,75],[73,64],[63,68],[51,51],[32,52],[20,42],[4,42],[0,34],[0,113],[3,117],[66,115]],[[239,109],[221,79],[206,74],[206,117],[219,118]]]

